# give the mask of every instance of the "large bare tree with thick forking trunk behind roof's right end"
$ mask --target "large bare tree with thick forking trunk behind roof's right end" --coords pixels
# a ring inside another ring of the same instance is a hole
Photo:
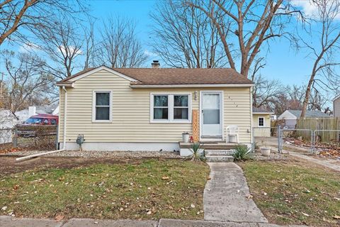
[[[275,38],[293,38],[286,31],[293,14],[288,0],[187,0],[203,11],[217,28],[229,66],[248,77],[251,65],[264,44]],[[240,60],[239,60],[240,59]]]

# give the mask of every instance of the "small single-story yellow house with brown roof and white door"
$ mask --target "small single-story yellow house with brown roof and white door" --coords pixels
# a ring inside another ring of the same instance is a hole
[[[65,142],[67,150],[78,150],[77,136],[84,134],[83,150],[172,151],[183,132],[225,141],[231,125],[239,128],[239,143],[252,142],[253,83],[232,69],[101,66],[57,86],[60,148]]]

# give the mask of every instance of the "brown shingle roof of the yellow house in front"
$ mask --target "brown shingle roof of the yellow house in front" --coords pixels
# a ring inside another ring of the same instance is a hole
[[[79,74],[67,77],[61,82],[77,77]],[[138,80],[131,84],[138,85],[169,85],[169,84],[252,84],[251,80],[235,70],[227,68],[215,69],[183,69],[183,68],[113,68],[121,74]]]

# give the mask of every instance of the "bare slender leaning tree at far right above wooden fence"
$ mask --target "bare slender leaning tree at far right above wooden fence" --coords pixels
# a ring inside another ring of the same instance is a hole
[[[340,14],[340,1],[313,0],[310,1],[310,4],[317,7],[317,15],[312,16],[312,21],[314,22],[312,26],[317,31],[312,31],[311,33],[312,37],[317,40],[317,43],[313,45],[313,43],[303,38],[301,39],[305,47],[310,50],[313,60],[312,72],[302,104],[301,117],[305,116],[308,104],[310,104],[312,89],[319,93],[317,85],[331,89],[327,82],[325,82],[326,79],[331,81],[334,77],[337,77],[339,81],[339,75],[334,73],[334,68],[340,65],[339,57],[335,57],[340,50],[340,23],[337,21],[337,17]],[[317,77],[321,79],[317,79]],[[339,84],[337,86],[339,87]]]

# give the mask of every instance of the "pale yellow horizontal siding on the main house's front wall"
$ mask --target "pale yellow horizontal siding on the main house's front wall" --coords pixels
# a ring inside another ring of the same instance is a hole
[[[112,92],[112,122],[92,122],[93,91]],[[101,70],[74,83],[67,89],[67,142],[75,142],[84,134],[86,142],[174,143],[185,131],[192,132],[191,123],[150,123],[151,93],[191,93],[192,109],[199,109],[199,94],[203,90],[224,92],[224,123],[239,126],[240,142],[250,143],[250,94],[248,88],[130,88],[130,81]],[[198,92],[195,100],[194,92]],[[60,133],[63,138],[64,91],[60,89]]]

